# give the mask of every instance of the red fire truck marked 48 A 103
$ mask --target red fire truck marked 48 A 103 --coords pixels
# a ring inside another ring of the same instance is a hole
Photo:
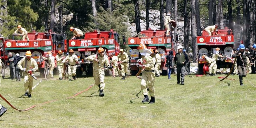
[[[141,31],[143,37],[132,37],[128,38],[128,46],[132,49],[130,52],[131,60],[130,60],[130,68],[131,74],[135,75],[138,72],[138,59],[141,58],[140,52],[137,50],[137,47],[140,44],[145,44],[148,49],[157,49],[161,56],[161,66],[160,70],[162,70],[162,75],[167,75],[167,67],[165,67],[166,63],[166,55],[169,54],[169,51],[173,51],[173,55],[175,55],[175,50],[173,46],[173,35],[171,37],[166,37],[166,30],[144,30]]]

